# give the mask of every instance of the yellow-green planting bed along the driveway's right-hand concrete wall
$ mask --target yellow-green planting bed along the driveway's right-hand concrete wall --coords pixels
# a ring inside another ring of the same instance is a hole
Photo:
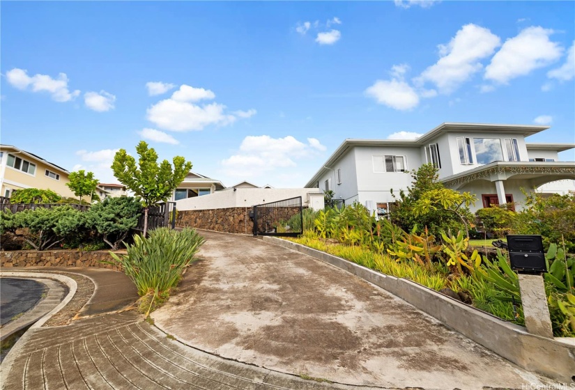
[[[314,228],[294,242],[364,267],[457,297],[504,320],[523,325],[519,280],[498,249],[492,261],[471,251],[457,234],[432,235],[426,228],[404,231],[388,219],[376,220],[360,204],[316,213]],[[555,336],[575,336],[575,259],[551,244],[544,280]]]

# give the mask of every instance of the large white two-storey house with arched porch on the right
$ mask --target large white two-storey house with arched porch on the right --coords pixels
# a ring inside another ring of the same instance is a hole
[[[548,126],[443,123],[415,140],[346,139],[307,188],[331,189],[346,204],[357,201],[383,216],[407,189],[408,173],[422,164],[438,168],[447,188],[477,196],[475,211],[514,202],[555,180],[575,179],[575,162],[559,162],[558,153],[575,143],[526,143]]]

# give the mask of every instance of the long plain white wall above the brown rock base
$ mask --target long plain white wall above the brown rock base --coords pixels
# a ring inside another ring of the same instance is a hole
[[[309,206],[309,195],[319,194],[315,188],[238,188],[176,201],[177,210],[208,210],[214,208],[252,207],[262,203],[302,197],[302,205]],[[323,195],[321,195],[323,198]],[[317,205],[317,201],[312,202]],[[317,206],[316,206],[317,207]]]

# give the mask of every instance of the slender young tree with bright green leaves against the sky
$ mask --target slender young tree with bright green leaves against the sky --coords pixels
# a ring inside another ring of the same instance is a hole
[[[136,146],[139,162],[128,155],[125,149],[120,149],[114,156],[112,171],[123,185],[141,198],[144,205],[144,237],[148,233],[148,209],[158,202],[167,201],[171,193],[184,180],[192,169],[192,163],[184,157],[172,159],[174,167],[164,159],[158,165],[158,153],[148,148],[148,143],[140,141]]]

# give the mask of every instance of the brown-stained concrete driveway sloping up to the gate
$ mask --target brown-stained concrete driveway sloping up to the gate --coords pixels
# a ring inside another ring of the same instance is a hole
[[[319,260],[253,237],[201,234],[202,260],[152,315],[194,348],[346,384],[521,389],[547,382]]]

